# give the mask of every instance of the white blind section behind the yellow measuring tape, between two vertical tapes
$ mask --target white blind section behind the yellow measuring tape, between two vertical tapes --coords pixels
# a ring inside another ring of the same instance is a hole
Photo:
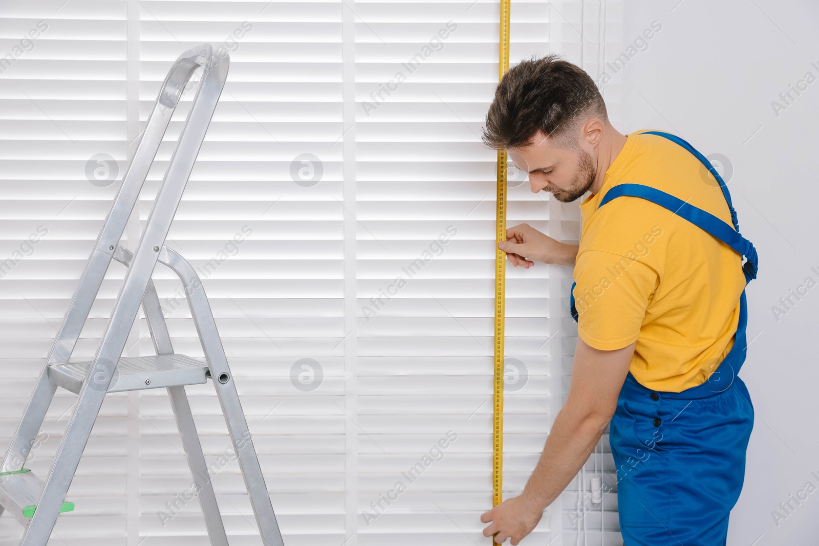
[[[355,9],[358,544],[481,544],[495,152],[479,135],[497,84],[498,4]],[[513,63],[548,52],[548,5],[514,2],[511,14]],[[545,230],[544,203],[512,178],[509,225]],[[551,423],[546,272],[507,268],[505,497],[523,488]],[[544,517],[527,541],[550,539]]]

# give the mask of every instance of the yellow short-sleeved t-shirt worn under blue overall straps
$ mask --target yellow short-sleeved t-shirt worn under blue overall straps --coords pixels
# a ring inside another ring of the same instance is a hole
[[[581,202],[574,268],[577,332],[600,350],[636,341],[631,373],[653,390],[680,392],[708,379],[734,343],[745,287],[742,259],[672,211],[609,189],[638,183],[731,224],[717,180],[667,138],[627,135],[600,192]]]

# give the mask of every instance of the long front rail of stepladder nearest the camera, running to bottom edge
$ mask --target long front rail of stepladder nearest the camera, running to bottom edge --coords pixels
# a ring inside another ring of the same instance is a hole
[[[133,253],[131,266],[125,273],[120,293],[111,311],[111,318],[102,334],[102,341],[88,368],[88,377],[79,392],[74,414],[71,416],[60,447],[57,449],[51,472],[49,472],[43,487],[43,494],[38,502],[38,508],[24,532],[20,546],[46,544],[51,535],[59,508],[66,498],[71,480],[79,465],[79,458],[88,442],[88,436],[99,413],[99,408],[102,406],[102,400],[111,383],[116,363],[124,350],[128,333],[133,326],[139,305],[147,289],[147,283],[156,267],[160,247],[165,243],[170,223],[179,206],[179,200],[227,79],[229,56],[217,58],[213,55],[210,44],[198,46],[194,50],[199,52],[195,61],[189,58],[179,60],[180,65],[188,67],[187,77],[171,79],[170,82],[166,79],[165,81],[172,85],[161,93],[159,102],[163,106],[175,108],[184,83],[187,83],[198,65],[204,65],[205,68],[201,85],[193,98],[188,118],[170,157],[165,178],[162,180],[161,188],[156,195],[151,213],[148,215],[137,250]]]

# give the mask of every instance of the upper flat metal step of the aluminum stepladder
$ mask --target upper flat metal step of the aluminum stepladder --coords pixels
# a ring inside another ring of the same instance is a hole
[[[90,364],[90,361],[51,364],[48,367],[48,378],[57,386],[79,395]],[[155,354],[120,359],[107,392],[196,385],[207,381],[206,372],[206,362],[185,354]]]

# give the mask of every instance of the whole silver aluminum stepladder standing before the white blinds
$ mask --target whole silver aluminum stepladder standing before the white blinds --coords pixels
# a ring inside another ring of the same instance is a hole
[[[0,513],[3,509],[8,510],[25,527],[20,546],[45,546],[59,513],[73,509],[73,503],[64,502],[66,493],[106,392],[161,387],[168,389],[174,417],[188,456],[188,465],[197,485],[197,496],[205,517],[210,544],[227,546],[224,524],[184,389],[185,385],[205,383],[208,378],[212,378],[214,383],[233,449],[238,454],[262,542],[265,546],[283,546],[265,478],[256,458],[256,449],[253,447],[201,280],[188,261],[165,246],[165,237],[188,183],[216,103],[219,102],[229,64],[228,55],[221,58],[214,56],[210,44],[203,44],[180,55],[165,77],[143,137],[79,279],[79,285],[20,425],[3,458],[0,468]],[[125,224],[183,88],[199,67],[203,70],[188,119],[179,134],[177,147],[170,158],[137,249],[132,254],[119,244]],[[124,264],[128,270],[111,311],[111,318],[102,334],[102,341],[93,360],[69,363],[111,259]],[[151,279],[157,261],[173,269],[183,282],[206,362],[184,354],[174,354]],[[120,358],[140,304],[143,305],[156,355]],[[88,373],[89,369],[92,370],[91,373]],[[51,470],[43,483],[33,472],[26,470],[24,465],[57,386],[74,392],[79,398]]]

